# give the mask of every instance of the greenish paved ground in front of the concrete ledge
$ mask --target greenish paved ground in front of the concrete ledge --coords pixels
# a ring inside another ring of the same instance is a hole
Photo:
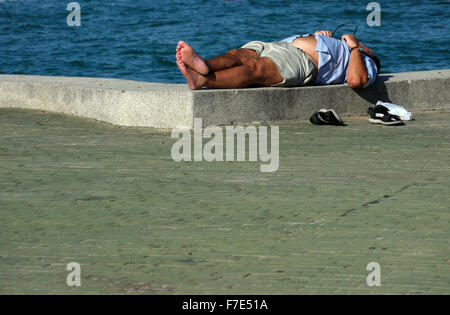
[[[450,112],[415,116],[277,124],[261,173],[173,162],[169,131],[0,109],[0,294],[448,294]]]

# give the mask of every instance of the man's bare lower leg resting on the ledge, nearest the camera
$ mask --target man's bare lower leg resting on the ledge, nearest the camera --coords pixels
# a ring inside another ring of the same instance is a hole
[[[272,86],[284,80],[276,65],[268,58],[251,60],[244,65],[216,71],[207,76],[187,67],[178,58],[177,65],[192,90],[202,87],[236,89],[253,85]]]

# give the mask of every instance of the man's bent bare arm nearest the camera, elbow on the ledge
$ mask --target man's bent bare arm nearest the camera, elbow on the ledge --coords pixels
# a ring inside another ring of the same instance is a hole
[[[351,34],[343,35],[342,40],[347,43],[350,49],[359,46],[358,40]],[[352,89],[358,89],[365,86],[367,82],[368,75],[362,59],[362,53],[358,49],[353,49],[350,53],[350,63],[347,70],[347,83]]]

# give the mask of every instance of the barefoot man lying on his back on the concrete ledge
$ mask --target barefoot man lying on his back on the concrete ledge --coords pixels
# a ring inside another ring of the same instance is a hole
[[[368,87],[380,71],[373,51],[354,35],[341,40],[330,31],[295,35],[280,42],[253,41],[209,60],[180,41],[177,66],[191,90],[251,86],[305,86],[347,83]]]

